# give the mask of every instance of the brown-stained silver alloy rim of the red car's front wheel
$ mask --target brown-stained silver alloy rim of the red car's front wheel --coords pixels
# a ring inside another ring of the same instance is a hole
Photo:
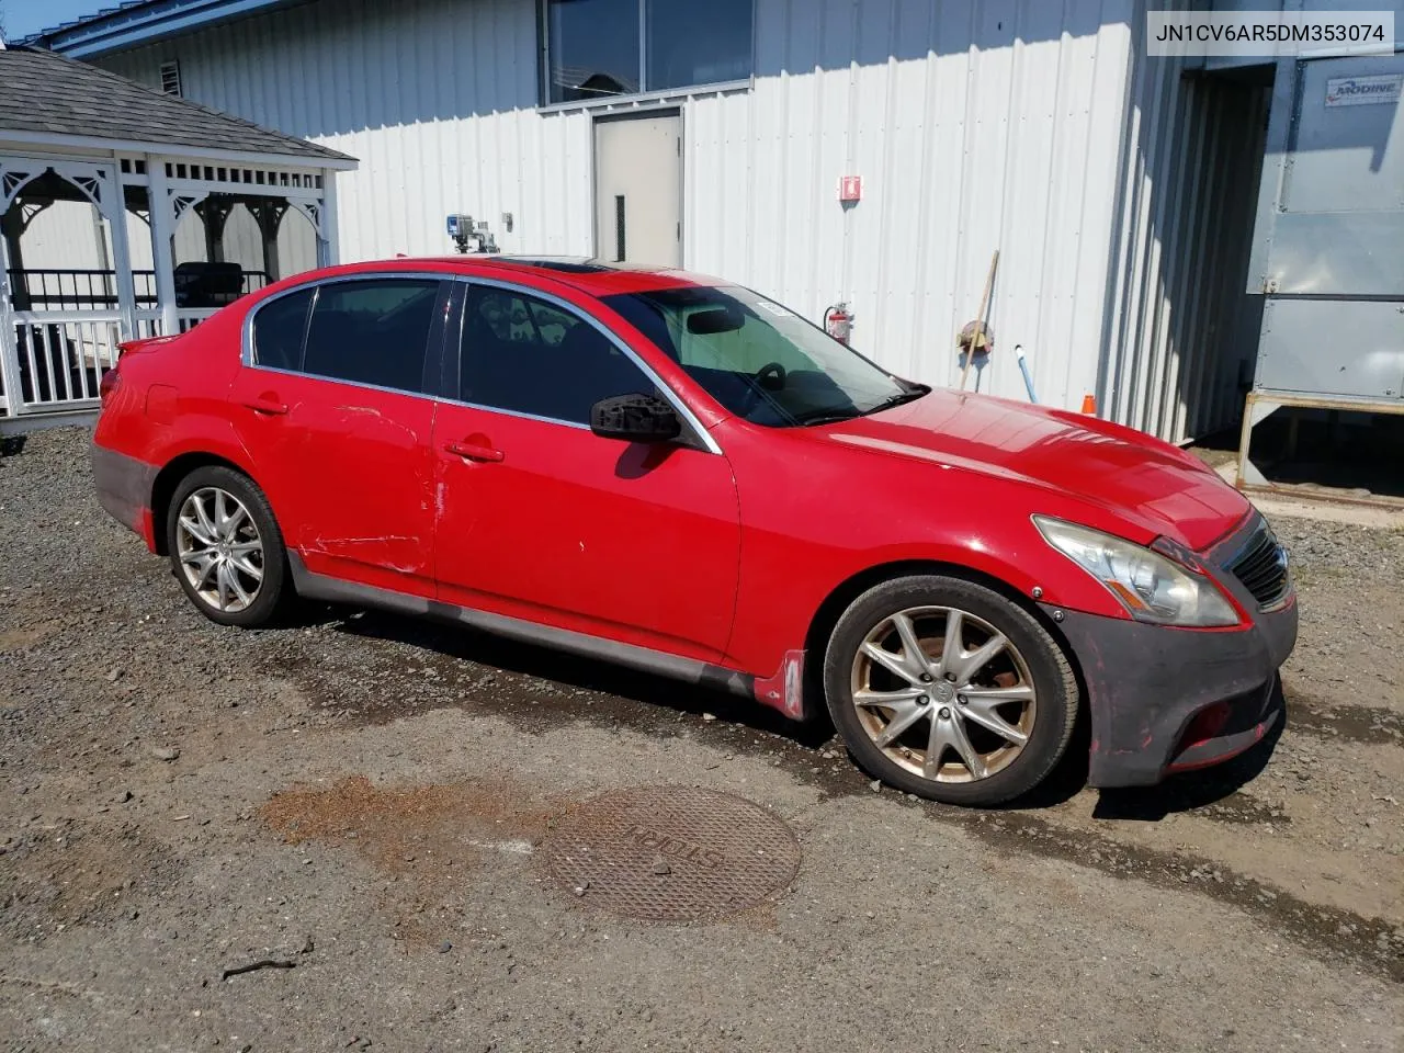
[[[952,607],[889,615],[852,664],[858,722],[883,754],[935,782],[977,782],[1002,771],[1033,731],[1038,698],[1014,643]]]

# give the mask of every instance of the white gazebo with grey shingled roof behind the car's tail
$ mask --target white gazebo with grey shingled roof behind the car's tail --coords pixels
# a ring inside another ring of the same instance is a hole
[[[0,44],[0,432],[83,420],[132,337],[337,258],[357,161]]]

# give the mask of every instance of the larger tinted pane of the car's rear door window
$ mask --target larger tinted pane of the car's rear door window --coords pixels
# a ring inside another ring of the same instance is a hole
[[[375,278],[322,285],[302,372],[402,392],[424,389],[424,357],[439,284]]]

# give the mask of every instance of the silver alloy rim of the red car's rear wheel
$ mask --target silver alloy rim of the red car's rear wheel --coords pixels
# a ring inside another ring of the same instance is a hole
[[[258,598],[264,546],[249,508],[227,490],[201,487],[181,504],[176,522],[181,571],[195,595],[223,614]]]

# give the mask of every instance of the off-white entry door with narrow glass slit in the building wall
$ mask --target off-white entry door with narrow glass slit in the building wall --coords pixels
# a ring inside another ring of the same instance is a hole
[[[595,121],[595,256],[682,265],[682,117]]]

